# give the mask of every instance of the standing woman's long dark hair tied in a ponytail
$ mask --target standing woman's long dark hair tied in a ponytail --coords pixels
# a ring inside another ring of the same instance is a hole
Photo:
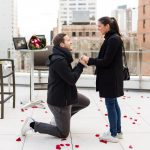
[[[110,30],[115,31],[119,36],[121,36],[118,23],[114,17],[102,17],[99,18],[98,21],[103,25],[109,24]]]

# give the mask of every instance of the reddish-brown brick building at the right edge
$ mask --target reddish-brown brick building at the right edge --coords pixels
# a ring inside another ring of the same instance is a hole
[[[150,0],[139,0],[138,45],[142,53],[142,74],[150,75]]]

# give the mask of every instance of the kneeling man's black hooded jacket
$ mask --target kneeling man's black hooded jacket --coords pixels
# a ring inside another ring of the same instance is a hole
[[[75,83],[80,77],[84,66],[78,63],[72,69],[71,53],[58,46],[53,47],[49,56],[49,79],[47,103],[54,106],[67,106],[77,103],[77,89]]]

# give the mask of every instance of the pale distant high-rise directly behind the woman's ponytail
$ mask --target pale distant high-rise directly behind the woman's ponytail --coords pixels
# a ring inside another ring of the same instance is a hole
[[[112,11],[112,17],[117,19],[123,35],[137,31],[137,9],[127,8],[126,5],[118,6]]]

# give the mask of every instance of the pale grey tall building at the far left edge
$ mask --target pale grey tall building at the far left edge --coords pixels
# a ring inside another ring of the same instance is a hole
[[[17,1],[0,0],[0,58],[7,58],[8,48],[13,48],[13,36],[18,36]]]

